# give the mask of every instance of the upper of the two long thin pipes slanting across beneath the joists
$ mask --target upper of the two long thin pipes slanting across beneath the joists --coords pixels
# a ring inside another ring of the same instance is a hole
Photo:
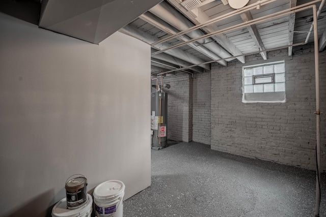
[[[206,21],[206,22],[203,22],[203,23],[201,23],[201,24],[195,25],[195,26],[193,26],[193,27],[191,27],[191,28],[188,28],[188,29],[182,30],[180,33],[178,33],[178,34],[176,34],[176,35],[173,35],[173,36],[170,36],[170,37],[164,38],[164,39],[159,40],[159,41],[157,41],[157,42],[155,42],[155,43],[153,43],[153,44],[151,44],[151,45],[153,46],[153,45],[158,44],[158,43],[162,43],[162,42],[169,41],[169,40],[171,40],[171,39],[173,39],[173,38],[176,38],[176,37],[179,36],[179,35],[187,34],[188,32],[190,32],[190,31],[192,31],[192,30],[199,29],[199,28],[204,27],[204,26],[206,26],[206,25],[209,25],[209,24],[212,24],[212,23],[215,23],[215,22],[218,22],[218,21],[221,21],[221,20],[227,19],[227,18],[232,17],[232,16],[234,16],[234,15],[236,15],[236,14],[240,14],[240,13],[243,13],[243,12],[246,12],[246,11],[250,11],[250,10],[252,10],[252,9],[257,8],[258,6],[261,7],[261,6],[263,6],[263,5],[266,5],[266,4],[269,4],[269,3],[275,2],[275,1],[277,1],[277,0],[261,0],[261,1],[257,1],[257,2],[254,3],[254,4],[251,4],[251,5],[248,5],[248,6],[246,6],[246,7],[243,7],[243,8],[240,8],[240,9],[234,10],[234,11],[231,11],[231,12],[229,12],[229,13],[227,13],[227,14],[223,14],[223,15],[221,15],[221,16],[219,16],[219,17],[215,17],[215,18],[210,19],[210,20],[208,20],[208,21]],[[320,0],[320,1],[321,1],[321,0]]]

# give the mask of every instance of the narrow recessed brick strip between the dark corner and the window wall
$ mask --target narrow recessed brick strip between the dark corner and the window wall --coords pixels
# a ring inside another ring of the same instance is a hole
[[[210,72],[193,79],[193,140],[210,144]]]

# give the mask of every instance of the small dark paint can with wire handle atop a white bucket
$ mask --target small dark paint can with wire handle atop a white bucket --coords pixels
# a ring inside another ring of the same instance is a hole
[[[87,202],[87,178],[84,175],[70,176],[65,189],[68,209],[80,208]]]

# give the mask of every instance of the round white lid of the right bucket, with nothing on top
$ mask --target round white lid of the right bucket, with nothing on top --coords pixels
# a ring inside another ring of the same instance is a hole
[[[109,199],[121,195],[124,192],[125,185],[119,180],[104,181],[96,186],[93,196],[96,199]]]

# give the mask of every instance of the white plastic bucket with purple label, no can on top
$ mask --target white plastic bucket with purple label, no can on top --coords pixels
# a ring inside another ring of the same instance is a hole
[[[119,180],[105,181],[94,189],[94,210],[98,217],[123,217],[125,185]]]

